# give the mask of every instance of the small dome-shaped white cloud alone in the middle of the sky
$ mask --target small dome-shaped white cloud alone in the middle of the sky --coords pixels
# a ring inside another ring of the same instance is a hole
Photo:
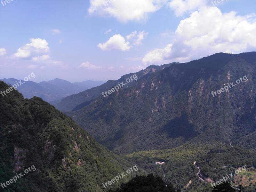
[[[111,51],[111,50],[127,51],[132,47],[129,44],[130,43],[128,41],[125,42],[125,39],[123,36],[117,34],[117,35],[110,37],[106,43],[98,44],[98,47],[102,51]]]

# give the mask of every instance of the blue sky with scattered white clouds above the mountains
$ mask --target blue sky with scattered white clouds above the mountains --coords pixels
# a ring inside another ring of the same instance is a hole
[[[256,51],[255,0],[2,0],[0,79],[116,80]]]

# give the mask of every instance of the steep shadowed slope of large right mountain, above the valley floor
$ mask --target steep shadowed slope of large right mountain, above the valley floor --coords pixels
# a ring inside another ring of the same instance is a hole
[[[117,153],[168,149],[196,138],[254,149],[255,64],[255,52],[173,64],[67,114]],[[212,96],[244,76],[248,81]]]

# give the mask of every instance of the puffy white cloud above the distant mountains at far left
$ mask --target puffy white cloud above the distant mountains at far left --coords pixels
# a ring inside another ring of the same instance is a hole
[[[34,57],[36,55],[42,55],[48,51],[49,47],[45,39],[31,38],[30,43],[20,47],[17,53],[14,54],[14,57],[28,59],[31,55]]]

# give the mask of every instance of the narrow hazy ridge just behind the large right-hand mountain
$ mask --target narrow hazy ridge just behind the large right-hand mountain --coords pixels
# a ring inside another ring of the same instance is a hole
[[[166,67],[171,66],[172,64],[175,64],[175,63],[165,64],[161,66],[150,65],[146,69],[143,69],[137,72],[136,76],[140,79],[142,76],[155,73]],[[107,92],[110,88],[112,88],[113,86],[116,86],[118,83],[121,83],[123,81],[125,82],[125,80],[132,75],[134,75],[134,73],[124,75],[118,80],[109,80],[98,87],[93,87],[92,89],[68,96],[62,99],[59,103],[55,103],[54,106],[61,111],[71,111],[73,109],[77,110],[77,108],[80,108],[78,105],[81,105],[82,103],[88,102],[92,99],[99,97],[102,94],[102,92]],[[134,83],[135,81],[131,81],[131,83],[125,85],[124,87],[132,86]]]

